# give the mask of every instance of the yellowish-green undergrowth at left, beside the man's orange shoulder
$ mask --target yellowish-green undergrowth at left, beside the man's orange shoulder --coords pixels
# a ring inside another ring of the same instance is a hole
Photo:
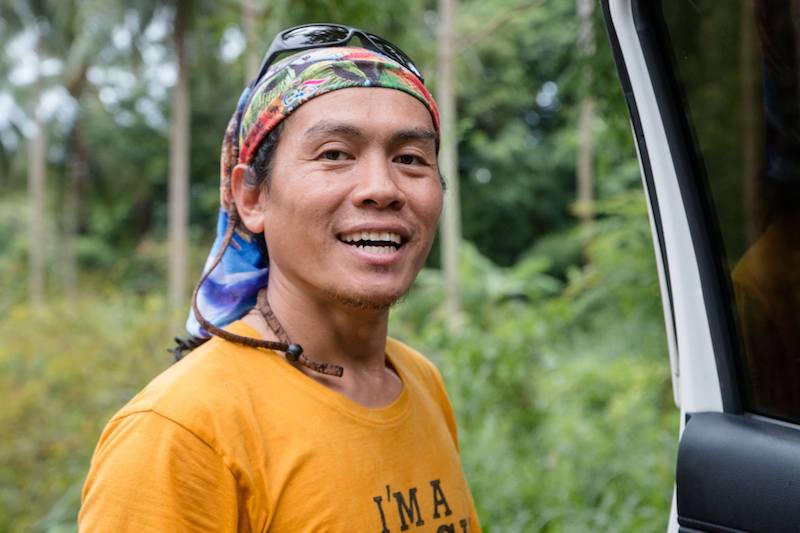
[[[74,524],[100,429],[170,362],[166,318],[160,298],[107,290],[0,320],[0,530],[49,510]]]

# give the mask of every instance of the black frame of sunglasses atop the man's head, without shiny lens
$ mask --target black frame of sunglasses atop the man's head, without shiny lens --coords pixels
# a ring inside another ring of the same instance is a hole
[[[319,42],[319,43],[312,43],[306,42],[299,45],[290,45],[287,44],[287,37],[284,37],[289,32],[295,32],[297,30],[302,30],[303,28],[330,28],[330,29],[338,29],[338,30],[346,30],[347,34],[340,38],[340,39],[332,39],[328,42]],[[353,37],[358,37],[361,39],[362,48],[366,48],[367,50],[372,50],[373,52],[377,52],[381,55],[384,55],[394,61],[397,61],[405,68],[411,71],[419,81],[423,84],[425,83],[425,78],[422,76],[422,71],[414,64],[408,55],[403,52],[397,45],[389,42],[388,40],[384,39],[379,35],[375,35],[374,33],[369,33],[364,30],[360,30],[358,28],[353,28],[351,26],[345,26],[344,24],[328,24],[328,23],[317,23],[317,24],[302,24],[300,26],[293,26],[291,28],[287,28],[272,40],[272,44],[269,45],[269,49],[267,49],[267,53],[264,55],[264,59],[261,61],[261,67],[258,69],[258,75],[253,79],[250,87],[255,87],[267,73],[270,65],[275,59],[278,57],[279,54],[284,52],[300,52],[302,50],[311,50],[313,48],[331,48],[334,46],[343,46],[346,45]]]

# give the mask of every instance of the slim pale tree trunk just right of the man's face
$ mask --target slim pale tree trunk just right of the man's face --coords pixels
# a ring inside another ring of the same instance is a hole
[[[453,18],[456,0],[439,0],[438,100],[441,112],[441,145],[439,161],[447,181],[444,213],[441,224],[442,267],[444,269],[445,304],[449,316],[457,318],[461,310],[458,280],[459,246],[461,243],[461,209],[458,193],[458,151],[456,139],[456,102],[453,89],[455,60]]]

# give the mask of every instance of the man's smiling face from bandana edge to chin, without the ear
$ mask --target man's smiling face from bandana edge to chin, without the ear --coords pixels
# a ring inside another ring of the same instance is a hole
[[[388,307],[422,268],[442,209],[428,110],[384,88],[303,104],[286,119],[262,205],[270,284]]]

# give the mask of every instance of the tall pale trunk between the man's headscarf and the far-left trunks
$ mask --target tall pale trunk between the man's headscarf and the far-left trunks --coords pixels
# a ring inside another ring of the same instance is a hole
[[[177,0],[175,8],[175,57],[178,69],[172,93],[169,153],[169,306],[177,311],[186,305],[189,235],[189,67],[186,33],[189,0]]]

